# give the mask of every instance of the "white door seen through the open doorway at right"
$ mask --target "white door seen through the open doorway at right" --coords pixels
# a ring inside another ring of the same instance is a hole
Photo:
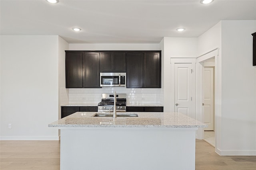
[[[214,68],[204,68],[203,73],[204,92],[204,123],[208,125],[205,131],[214,130]]]

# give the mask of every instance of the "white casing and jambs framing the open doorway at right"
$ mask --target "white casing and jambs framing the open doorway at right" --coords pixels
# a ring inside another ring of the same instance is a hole
[[[204,92],[203,92],[203,72],[204,65],[206,61],[214,59],[214,146],[215,152],[220,154],[218,149],[221,146],[221,56],[219,55],[219,48],[213,49],[203,55],[200,55],[196,58],[196,115],[197,120],[204,122]],[[206,64],[207,65],[207,64]],[[206,132],[207,133],[207,132]],[[197,132],[198,139],[205,139],[204,137],[204,128],[199,128]]]

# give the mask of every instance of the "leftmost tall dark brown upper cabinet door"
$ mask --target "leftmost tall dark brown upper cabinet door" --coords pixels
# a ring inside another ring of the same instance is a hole
[[[82,53],[66,52],[66,88],[82,88]]]

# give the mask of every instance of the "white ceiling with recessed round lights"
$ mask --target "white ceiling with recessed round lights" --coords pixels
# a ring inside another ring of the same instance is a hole
[[[198,37],[220,20],[256,20],[256,0],[0,0],[1,35],[60,35],[68,43],[159,43]]]

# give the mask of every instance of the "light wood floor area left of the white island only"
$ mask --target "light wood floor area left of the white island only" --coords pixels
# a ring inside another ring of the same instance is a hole
[[[0,170],[59,170],[60,141],[0,141]]]

